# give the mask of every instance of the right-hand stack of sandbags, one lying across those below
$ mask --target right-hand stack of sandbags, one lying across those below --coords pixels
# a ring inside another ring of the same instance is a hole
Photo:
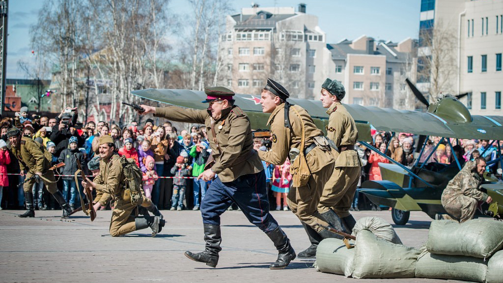
[[[434,221],[417,259],[415,276],[503,283],[502,247],[503,222]]]

